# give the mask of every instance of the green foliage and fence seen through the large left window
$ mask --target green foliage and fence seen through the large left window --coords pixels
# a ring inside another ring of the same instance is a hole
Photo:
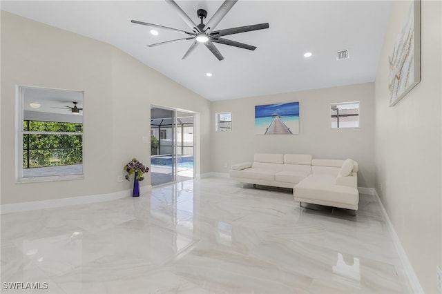
[[[83,164],[83,124],[23,121],[23,169]]]

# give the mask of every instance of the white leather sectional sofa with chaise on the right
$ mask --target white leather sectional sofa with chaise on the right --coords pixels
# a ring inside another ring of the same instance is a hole
[[[253,162],[233,164],[231,179],[293,188],[295,200],[358,210],[358,163],[312,159],[311,155],[256,153]]]

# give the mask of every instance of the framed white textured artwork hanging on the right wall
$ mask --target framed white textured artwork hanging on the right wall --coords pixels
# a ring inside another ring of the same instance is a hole
[[[388,57],[390,106],[394,106],[421,81],[421,0],[410,9]]]

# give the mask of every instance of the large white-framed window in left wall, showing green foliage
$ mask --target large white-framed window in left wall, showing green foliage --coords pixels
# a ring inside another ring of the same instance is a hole
[[[19,182],[81,178],[83,92],[18,87]]]

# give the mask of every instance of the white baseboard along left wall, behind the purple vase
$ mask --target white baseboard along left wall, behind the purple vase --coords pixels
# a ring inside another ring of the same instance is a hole
[[[151,185],[142,186],[142,190],[144,192],[150,192],[152,190],[152,186]],[[105,202],[109,200],[131,197],[131,191],[132,190],[130,189],[130,190],[122,190],[114,193],[106,193],[99,195],[88,195],[88,196],[69,197],[61,199],[21,202],[15,204],[2,204],[0,205],[0,214],[3,215],[6,213],[18,213],[21,211],[28,211],[28,210],[57,208],[63,206],[73,206],[73,205],[88,204],[94,202]]]

